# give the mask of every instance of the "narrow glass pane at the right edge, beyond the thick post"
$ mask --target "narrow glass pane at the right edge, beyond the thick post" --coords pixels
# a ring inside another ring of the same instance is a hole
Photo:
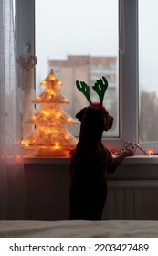
[[[157,10],[157,0],[139,0],[140,143],[158,142]]]

